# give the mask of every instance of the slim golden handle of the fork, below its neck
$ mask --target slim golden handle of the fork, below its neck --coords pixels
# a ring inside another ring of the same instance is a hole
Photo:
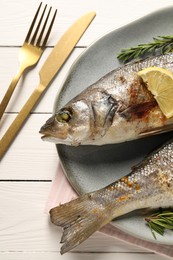
[[[5,95],[4,95],[4,97],[3,97],[3,99],[0,103],[0,120],[3,116],[3,113],[4,113],[8,103],[10,101],[10,98],[11,98],[11,96],[12,96],[12,94],[13,94],[15,88],[16,88],[16,85],[17,85],[22,73],[24,72],[24,70],[25,70],[24,67],[19,68],[17,74],[14,76],[13,80],[11,81],[10,86],[8,87],[8,89],[7,89]]]

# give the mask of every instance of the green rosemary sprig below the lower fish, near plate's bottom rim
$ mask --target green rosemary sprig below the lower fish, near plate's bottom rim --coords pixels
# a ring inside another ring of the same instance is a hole
[[[156,234],[163,236],[165,229],[173,230],[173,211],[163,211],[152,214],[145,218],[147,225],[149,226],[152,235],[155,239]]]

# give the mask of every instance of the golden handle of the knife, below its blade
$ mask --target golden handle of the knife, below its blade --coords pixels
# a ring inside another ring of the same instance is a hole
[[[20,128],[24,124],[25,120],[29,116],[31,110],[39,100],[42,94],[42,89],[44,86],[40,83],[38,87],[33,91],[25,105],[22,107],[2,139],[0,140],[0,159],[4,156],[6,153],[8,147],[16,137],[17,133],[19,132]]]

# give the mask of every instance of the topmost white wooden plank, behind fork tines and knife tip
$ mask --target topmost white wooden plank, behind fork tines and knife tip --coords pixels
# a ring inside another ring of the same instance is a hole
[[[125,25],[154,10],[172,4],[171,0],[165,1],[139,1],[134,0],[44,0],[44,3],[58,8],[56,24],[54,25],[48,44],[54,45],[62,33],[82,14],[96,11],[97,18],[90,26],[84,37],[79,42],[80,46],[88,46],[106,32]],[[23,43],[26,32],[33,19],[34,13],[40,3],[36,1],[1,0],[0,9],[0,45],[19,46]],[[134,12],[134,10],[138,10]]]

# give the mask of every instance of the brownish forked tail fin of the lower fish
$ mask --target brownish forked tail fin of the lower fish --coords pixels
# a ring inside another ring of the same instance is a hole
[[[63,228],[61,254],[82,243],[110,221],[105,223],[103,213],[94,204],[91,195],[85,194],[50,210],[52,223]]]

